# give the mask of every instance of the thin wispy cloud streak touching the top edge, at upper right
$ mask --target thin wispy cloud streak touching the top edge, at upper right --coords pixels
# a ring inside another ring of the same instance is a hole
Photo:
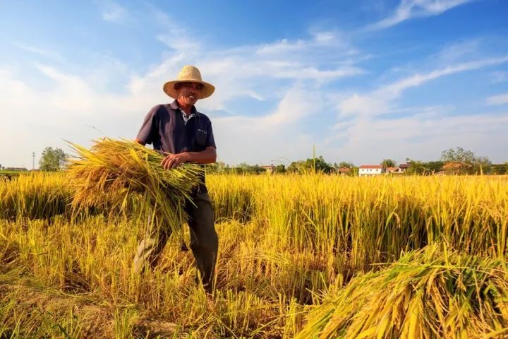
[[[451,8],[473,0],[402,0],[392,16],[368,25],[368,30],[381,30],[412,18],[437,16]]]

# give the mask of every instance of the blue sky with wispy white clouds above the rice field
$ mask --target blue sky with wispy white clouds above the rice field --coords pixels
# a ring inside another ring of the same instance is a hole
[[[0,0],[0,164],[135,138],[184,65],[218,160],[508,161],[508,1]]]

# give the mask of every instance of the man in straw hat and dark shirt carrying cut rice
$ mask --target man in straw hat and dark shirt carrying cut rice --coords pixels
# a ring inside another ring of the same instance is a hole
[[[162,160],[164,169],[171,169],[184,162],[201,165],[215,162],[217,153],[212,124],[205,114],[198,112],[195,103],[210,97],[214,86],[201,80],[200,71],[194,66],[184,66],[178,78],[164,84],[164,93],[174,98],[171,104],[157,105],[150,109],[135,141],[153,144],[155,150],[167,154]],[[191,250],[200,273],[203,286],[210,290],[213,283],[217,249],[217,232],[214,227],[212,203],[205,186],[205,171],[201,182],[192,191],[191,202],[186,203],[188,225],[191,229]],[[140,242],[134,258],[134,270],[141,273],[145,266],[152,268],[169,237],[169,227],[156,227],[150,223],[145,239]]]

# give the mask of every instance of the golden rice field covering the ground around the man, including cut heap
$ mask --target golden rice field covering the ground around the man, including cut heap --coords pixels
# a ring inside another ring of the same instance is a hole
[[[133,274],[136,198],[73,213],[66,173],[0,181],[0,338],[508,338],[508,177],[207,186],[212,295],[176,236]]]

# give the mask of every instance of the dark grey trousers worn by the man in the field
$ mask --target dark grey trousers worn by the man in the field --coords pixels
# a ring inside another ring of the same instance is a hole
[[[195,258],[196,266],[200,273],[202,284],[211,287],[217,262],[219,239],[214,227],[214,215],[210,196],[198,193],[192,203],[186,203],[186,212],[189,216],[188,225],[191,230],[191,250]],[[161,220],[149,220],[145,239],[138,245],[138,251],[134,258],[135,273],[142,273],[146,266],[154,268],[159,256],[171,235],[169,227]]]

